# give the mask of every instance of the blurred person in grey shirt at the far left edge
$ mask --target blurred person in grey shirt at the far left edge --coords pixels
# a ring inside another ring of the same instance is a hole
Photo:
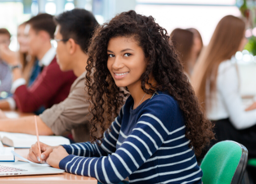
[[[5,28],[0,29],[0,45],[9,47],[11,34]],[[12,86],[12,73],[6,62],[3,61],[0,54],[0,92],[9,93]]]

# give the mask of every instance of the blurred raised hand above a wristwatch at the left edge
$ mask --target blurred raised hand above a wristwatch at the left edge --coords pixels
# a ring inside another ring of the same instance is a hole
[[[5,44],[0,44],[0,57],[9,65],[15,66],[20,64],[18,53],[11,51]]]

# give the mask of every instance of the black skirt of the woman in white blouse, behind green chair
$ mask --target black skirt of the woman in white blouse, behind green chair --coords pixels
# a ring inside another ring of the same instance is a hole
[[[248,149],[248,158],[256,158],[256,125],[243,130],[236,129],[229,118],[212,121],[215,124],[214,133],[216,140],[211,145],[222,140],[234,140]]]

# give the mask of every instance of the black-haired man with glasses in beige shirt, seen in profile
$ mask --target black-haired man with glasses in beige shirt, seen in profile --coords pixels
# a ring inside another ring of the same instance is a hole
[[[89,103],[84,91],[85,67],[89,39],[97,21],[93,14],[85,9],[66,11],[55,20],[57,28],[52,42],[57,46],[57,62],[61,70],[73,70],[78,78],[64,101],[53,105],[37,117],[39,134],[63,135],[66,131],[71,131],[75,142],[88,141],[91,126],[86,117],[89,113]],[[34,116],[2,119],[0,131],[35,134],[34,121]]]

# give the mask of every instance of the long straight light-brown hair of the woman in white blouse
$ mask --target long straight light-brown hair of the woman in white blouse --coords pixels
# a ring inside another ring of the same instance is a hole
[[[196,96],[205,110],[206,83],[210,84],[210,96],[216,91],[218,67],[222,61],[231,59],[243,39],[245,22],[232,15],[225,16],[216,26],[209,45],[199,57],[191,83]]]

